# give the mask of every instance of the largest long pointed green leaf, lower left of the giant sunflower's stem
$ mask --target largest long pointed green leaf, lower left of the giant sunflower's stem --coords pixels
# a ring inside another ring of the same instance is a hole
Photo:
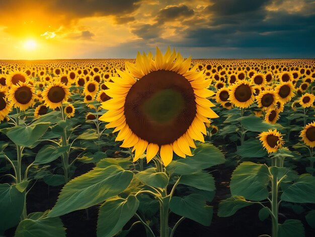
[[[64,215],[96,205],[123,192],[130,184],[133,173],[118,165],[94,168],[67,183],[48,217]]]

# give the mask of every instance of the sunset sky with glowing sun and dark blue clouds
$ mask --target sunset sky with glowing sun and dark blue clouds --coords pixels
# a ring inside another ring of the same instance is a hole
[[[314,58],[313,0],[0,0],[0,59]]]

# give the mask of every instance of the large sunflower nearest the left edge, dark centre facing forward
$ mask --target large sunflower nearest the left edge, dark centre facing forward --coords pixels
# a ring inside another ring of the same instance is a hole
[[[30,107],[34,98],[34,87],[25,82],[19,82],[17,85],[12,84],[9,90],[8,100],[14,107],[19,107],[21,110]]]

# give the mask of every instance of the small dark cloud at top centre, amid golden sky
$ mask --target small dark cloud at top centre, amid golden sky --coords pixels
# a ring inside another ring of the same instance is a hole
[[[157,14],[156,19],[160,24],[167,21],[173,21],[181,17],[191,17],[194,15],[194,10],[189,9],[186,5],[172,6],[161,9]]]

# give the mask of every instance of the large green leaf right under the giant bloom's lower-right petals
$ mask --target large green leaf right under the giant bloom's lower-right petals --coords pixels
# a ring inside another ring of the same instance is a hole
[[[189,174],[225,162],[223,153],[209,143],[198,144],[192,153],[193,156],[185,159],[173,160],[166,167],[167,171],[172,175]]]

